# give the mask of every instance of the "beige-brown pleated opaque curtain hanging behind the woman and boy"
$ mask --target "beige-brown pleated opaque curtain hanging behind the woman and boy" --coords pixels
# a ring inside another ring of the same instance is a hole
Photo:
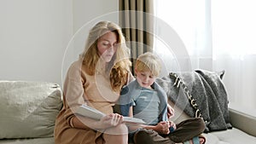
[[[119,0],[119,25],[131,48],[133,64],[138,55],[153,48],[153,3],[153,0]]]

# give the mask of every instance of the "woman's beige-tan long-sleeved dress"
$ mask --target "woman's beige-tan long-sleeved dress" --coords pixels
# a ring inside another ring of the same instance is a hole
[[[102,144],[101,132],[89,127],[86,130],[72,128],[73,112],[86,104],[106,114],[113,113],[113,105],[118,98],[106,76],[100,72],[90,76],[84,72],[80,60],[73,62],[63,85],[63,107],[55,121],[55,144]]]

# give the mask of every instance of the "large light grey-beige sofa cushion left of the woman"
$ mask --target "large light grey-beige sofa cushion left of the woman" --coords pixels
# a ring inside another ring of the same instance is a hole
[[[61,110],[58,84],[0,81],[0,139],[53,136]]]

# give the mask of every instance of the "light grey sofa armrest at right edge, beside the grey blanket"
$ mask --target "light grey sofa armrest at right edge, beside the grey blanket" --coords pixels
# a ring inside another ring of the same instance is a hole
[[[231,124],[249,135],[256,136],[256,117],[248,114],[249,112],[241,112],[235,110],[235,108],[229,108],[230,111],[230,122]]]

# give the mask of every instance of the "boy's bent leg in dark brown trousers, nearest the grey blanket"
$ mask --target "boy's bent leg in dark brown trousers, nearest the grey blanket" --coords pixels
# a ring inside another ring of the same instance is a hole
[[[200,135],[205,130],[205,123],[202,118],[189,118],[176,125],[168,137],[175,142],[189,141],[193,137]]]

